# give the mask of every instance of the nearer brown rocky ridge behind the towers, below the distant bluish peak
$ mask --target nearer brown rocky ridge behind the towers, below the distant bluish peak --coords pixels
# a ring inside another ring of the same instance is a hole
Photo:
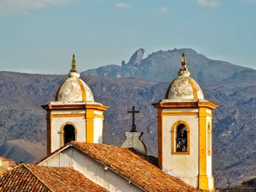
[[[180,64],[178,55],[176,58]],[[20,156],[24,158],[19,154],[19,151],[24,153],[19,147],[26,149],[28,143],[33,143],[34,150],[45,148],[46,113],[40,106],[54,100],[66,77],[0,72],[0,155],[13,150],[17,154],[9,154],[19,162]],[[135,77],[94,77],[84,73],[81,79],[91,88],[95,101],[110,107],[105,112],[104,142],[121,145],[124,132],[130,131],[131,117],[127,110],[135,105],[140,110],[136,118],[138,131],[144,132],[142,139],[148,153],[157,155],[157,110],[151,103],[163,99],[171,79],[158,82]],[[239,80],[242,80],[241,84]],[[219,82],[202,82],[200,87],[206,99],[219,104],[213,120],[213,165],[217,188],[255,177],[256,71],[238,70]],[[27,159],[21,160],[35,161],[37,151],[33,152],[31,148],[26,152]]]

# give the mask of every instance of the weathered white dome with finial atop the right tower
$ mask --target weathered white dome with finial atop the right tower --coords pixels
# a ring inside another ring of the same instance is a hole
[[[170,83],[165,93],[165,99],[174,101],[191,101],[203,99],[203,91],[195,80],[189,77],[186,56],[182,55],[181,69],[173,82]]]

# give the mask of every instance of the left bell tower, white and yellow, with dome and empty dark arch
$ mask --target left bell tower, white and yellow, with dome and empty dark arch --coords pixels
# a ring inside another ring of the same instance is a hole
[[[94,96],[76,69],[72,69],[59,87],[55,101],[42,106],[47,111],[47,153],[71,141],[102,143],[103,112],[108,107],[94,101]]]

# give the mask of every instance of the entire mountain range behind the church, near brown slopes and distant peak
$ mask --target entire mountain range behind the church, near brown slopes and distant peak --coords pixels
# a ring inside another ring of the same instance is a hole
[[[95,101],[105,112],[104,142],[121,145],[132,123],[127,110],[140,110],[136,126],[149,155],[157,155],[157,110],[176,77],[181,54],[203,89],[205,98],[219,104],[214,112],[213,157],[217,188],[256,177],[256,71],[214,61],[192,49],[158,51],[143,58],[136,51],[129,62],[81,72]],[[79,64],[78,64],[79,65]],[[98,77],[97,77],[98,76]],[[66,75],[0,72],[0,155],[33,163],[46,154],[46,120],[40,105],[53,101]]]

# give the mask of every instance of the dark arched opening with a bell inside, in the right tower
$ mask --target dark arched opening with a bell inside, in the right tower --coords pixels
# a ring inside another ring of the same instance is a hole
[[[176,129],[176,152],[187,151],[187,127],[184,124],[178,125]]]

